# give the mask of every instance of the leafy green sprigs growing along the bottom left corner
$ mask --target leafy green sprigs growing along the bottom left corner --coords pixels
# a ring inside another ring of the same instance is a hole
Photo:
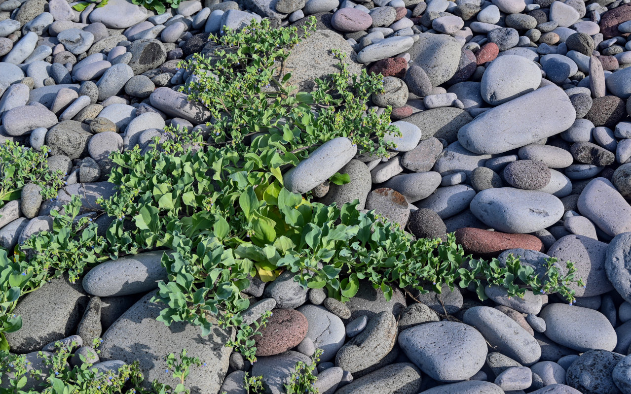
[[[98,341],[98,339],[97,339]],[[98,342],[95,342],[95,347]],[[175,387],[153,381],[151,388],[144,388],[143,374],[138,362],[124,364],[116,371],[99,371],[80,355],[80,366],[71,368],[69,357],[78,345],[56,343],[52,354],[38,352],[37,358],[43,368],[35,369],[27,356],[0,351],[0,379],[6,380],[6,388],[0,387],[0,394],[189,394],[184,380],[191,366],[204,366],[198,358],[187,356],[182,349],[179,360],[174,354],[165,356],[173,370]]]

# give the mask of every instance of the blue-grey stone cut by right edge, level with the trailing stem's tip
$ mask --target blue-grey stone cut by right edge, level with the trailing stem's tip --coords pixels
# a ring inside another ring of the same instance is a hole
[[[604,269],[614,289],[631,300],[631,233],[616,235],[607,246]],[[622,306],[621,306],[622,309]]]

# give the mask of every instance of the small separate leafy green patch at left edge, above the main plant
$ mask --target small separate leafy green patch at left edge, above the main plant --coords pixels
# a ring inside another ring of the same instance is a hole
[[[44,199],[57,197],[57,190],[64,185],[64,173],[49,169],[49,152],[46,146],[36,151],[13,141],[0,144],[0,208],[6,201],[20,199],[27,183],[41,187]]]

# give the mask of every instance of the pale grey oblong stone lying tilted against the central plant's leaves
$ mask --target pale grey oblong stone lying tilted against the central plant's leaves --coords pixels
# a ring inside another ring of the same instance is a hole
[[[309,158],[287,171],[285,187],[305,193],[332,177],[357,154],[357,146],[346,137],[337,137],[315,149]]]

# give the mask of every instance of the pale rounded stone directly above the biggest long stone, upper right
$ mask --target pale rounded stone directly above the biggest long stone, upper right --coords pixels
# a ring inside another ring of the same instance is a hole
[[[534,62],[507,55],[495,59],[485,70],[481,95],[490,105],[500,105],[534,91],[540,84],[541,70]]]

